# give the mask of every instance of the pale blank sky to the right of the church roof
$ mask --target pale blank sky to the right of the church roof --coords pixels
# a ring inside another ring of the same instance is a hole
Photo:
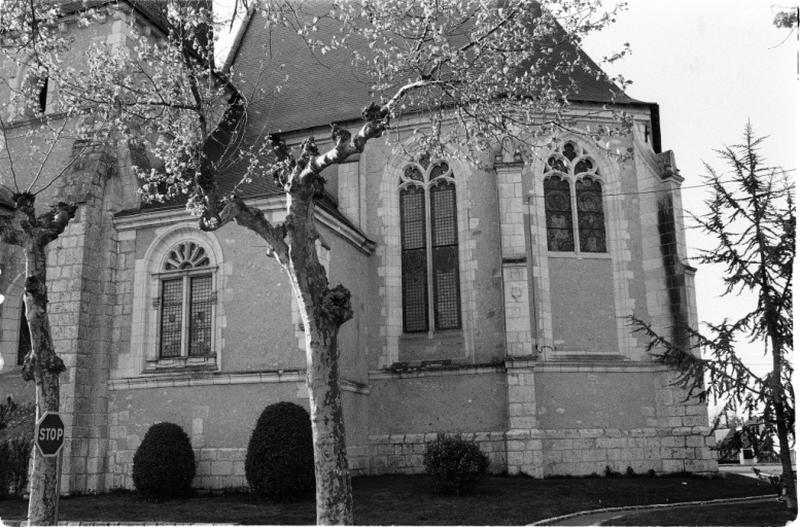
[[[631,0],[614,25],[584,43],[595,60],[630,43],[631,55],[604,69],[633,81],[630,96],[659,104],[662,148],[675,152],[684,187],[702,182],[703,162],[725,168],[714,149],[740,142],[748,120],[756,135],[769,136],[762,149],[769,164],[797,169],[800,46],[796,31],[790,35],[772,25],[784,6],[767,0]],[[706,189],[685,188],[682,196],[684,209],[705,210]],[[692,254],[708,240],[689,230],[687,245]],[[700,321],[718,322],[752,305],[747,295],[720,296],[719,268],[698,267],[695,284]],[[757,370],[769,367],[763,348],[742,343],[741,350]]]

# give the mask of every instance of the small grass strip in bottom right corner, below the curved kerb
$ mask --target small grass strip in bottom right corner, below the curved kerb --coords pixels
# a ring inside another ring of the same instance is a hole
[[[775,500],[736,505],[685,507],[616,518],[613,525],[753,525],[777,527],[797,518]]]

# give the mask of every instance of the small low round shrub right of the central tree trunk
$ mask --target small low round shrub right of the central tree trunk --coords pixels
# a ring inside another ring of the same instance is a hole
[[[439,436],[425,446],[425,472],[444,494],[470,494],[486,478],[489,459],[473,441]]]

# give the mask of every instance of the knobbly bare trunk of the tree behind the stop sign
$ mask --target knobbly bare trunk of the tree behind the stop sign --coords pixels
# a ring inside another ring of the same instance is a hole
[[[32,240],[25,247],[25,314],[31,332],[31,353],[25,359],[23,378],[36,383],[36,418],[59,409],[59,374],[63,361],[56,355],[47,317],[46,242]],[[59,457],[44,457],[33,448],[33,472],[28,501],[29,525],[55,525],[58,499]]]

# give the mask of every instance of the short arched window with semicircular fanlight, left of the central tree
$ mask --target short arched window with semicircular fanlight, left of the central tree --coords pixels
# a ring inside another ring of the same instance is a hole
[[[173,247],[159,273],[158,356],[162,359],[212,355],[214,271],[206,249],[196,242]]]

